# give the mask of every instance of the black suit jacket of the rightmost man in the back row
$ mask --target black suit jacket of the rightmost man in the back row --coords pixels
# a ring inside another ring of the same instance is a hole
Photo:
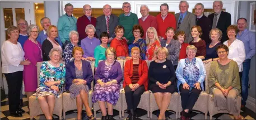
[[[213,18],[215,16],[215,13],[212,13],[211,15],[208,16],[211,20],[211,28],[212,28],[212,23],[213,23]],[[221,30],[222,32],[222,39],[221,43],[224,41],[228,40],[227,38],[227,27],[231,25],[231,15],[228,12],[221,11],[220,18],[218,18],[218,23],[217,23],[217,28]]]

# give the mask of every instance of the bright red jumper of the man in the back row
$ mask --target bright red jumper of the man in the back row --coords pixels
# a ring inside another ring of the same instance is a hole
[[[156,21],[157,21],[157,34],[158,36],[164,37],[166,39],[165,31],[168,27],[173,27],[174,30],[176,30],[176,20],[173,14],[168,13],[167,16],[165,17],[165,20],[162,20],[161,13],[156,16]]]

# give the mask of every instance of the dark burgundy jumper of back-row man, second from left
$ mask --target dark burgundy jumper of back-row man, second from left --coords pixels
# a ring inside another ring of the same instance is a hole
[[[91,21],[90,21],[86,15],[83,15],[77,19],[76,27],[77,27],[77,32],[79,34],[79,41],[81,41],[82,39],[85,39],[85,37],[88,36],[85,32],[85,28],[89,24],[96,27],[96,18],[91,16]],[[94,37],[100,37],[100,36],[97,36],[95,33]]]

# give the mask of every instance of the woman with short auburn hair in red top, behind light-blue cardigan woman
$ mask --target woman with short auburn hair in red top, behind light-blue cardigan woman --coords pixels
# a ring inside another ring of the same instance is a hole
[[[185,59],[187,57],[186,49],[188,44],[184,43],[184,40],[186,39],[185,32],[184,31],[178,31],[175,34],[175,40],[178,40],[180,42],[180,54],[179,54],[179,60]]]

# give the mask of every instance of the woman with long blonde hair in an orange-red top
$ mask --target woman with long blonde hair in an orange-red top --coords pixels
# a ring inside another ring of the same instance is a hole
[[[146,43],[147,43],[147,51],[146,51],[146,60],[156,60],[155,50],[161,47],[159,37],[157,36],[155,27],[148,27],[146,33]]]

